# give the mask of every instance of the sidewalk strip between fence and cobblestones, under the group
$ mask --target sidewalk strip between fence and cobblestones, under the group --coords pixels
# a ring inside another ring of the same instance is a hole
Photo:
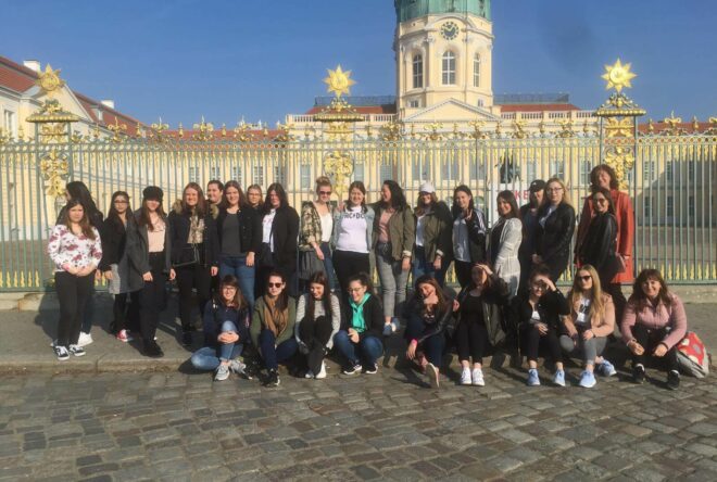
[[[148,371],[148,370],[192,370],[189,357],[193,350],[201,347],[203,334],[201,331],[194,333],[194,346],[189,350],[181,346],[177,338],[179,322],[175,320],[176,300],[169,302],[167,309],[161,319],[158,330],[158,343],[164,351],[163,358],[147,358],[139,351],[139,343],[122,343],[111,335],[108,325],[111,320],[111,300],[104,295],[98,295],[96,307],[96,325],[92,327],[95,342],[86,347],[87,355],[83,357],[71,357],[66,362],[58,362],[50,348],[50,342],[56,332],[59,313],[54,306],[40,306],[35,313],[32,312],[0,312],[0,371],[54,371],[54,372],[112,372],[112,371]],[[717,303],[687,303],[688,326],[696,331],[710,353],[717,352]],[[379,365],[382,367],[405,366],[403,352],[405,350],[403,340],[393,335],[387,342],[388,357]],[[620,346],[614,346],[613,351],[620,351]],[[626,357],[626,353],[615,353],[617,358]],[[496,357],[498,358],[498,357]],[[507,362],[493,360],[494,364],[503,366]],[[618,366],[621,363],[617,360]],[[485,365],[491,364],[490,359]],[[457,366],[454,356],[452,367]],[[329,373],[337,375],[340,367],[336,362],[329,360]]]

